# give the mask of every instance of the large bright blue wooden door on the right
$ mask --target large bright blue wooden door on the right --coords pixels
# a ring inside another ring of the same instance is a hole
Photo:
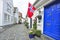
[[[44,34],[60,40],[60,2],[55,1],[44,8]]]

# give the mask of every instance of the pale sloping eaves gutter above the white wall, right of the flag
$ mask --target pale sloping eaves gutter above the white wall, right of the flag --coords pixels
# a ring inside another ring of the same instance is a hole
[[[33,5],[34,5],[37,9],[39,9],[39,8],[45,6],[45,5],[47,5],[47,4],[49,4],[49,3],[53,2],[53,1],[54,1],[54,0],[39,0],[39,1],[36,1]]]

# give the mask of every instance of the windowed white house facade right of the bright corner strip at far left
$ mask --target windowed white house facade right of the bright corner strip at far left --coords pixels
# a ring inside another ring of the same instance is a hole
[[[10,13],[7,11],[7,3],[9,4],[10,8]],[[10,21],[4,22],[4,14],[7,14],[10,16]],[[13,24],[13,0],[3,0],[3,25],[9,25]]]

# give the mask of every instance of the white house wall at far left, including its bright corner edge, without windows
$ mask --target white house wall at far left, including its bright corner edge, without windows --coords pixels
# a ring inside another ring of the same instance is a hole
[[[7,3],[11,6],[11,13],[7,12]],[[10,16],[10,21],[5,22],[4,14]],[[0,0],[0,26],[13,24],[13,1],[12,0]]]

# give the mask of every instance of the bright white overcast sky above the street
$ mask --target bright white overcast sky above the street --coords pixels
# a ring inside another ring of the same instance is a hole
[[[14,7],[18,7],[19,12],[22,13],[22,16],[25,18],[28,9],[28,3],[33,4],[36,0],[13,0]]]

